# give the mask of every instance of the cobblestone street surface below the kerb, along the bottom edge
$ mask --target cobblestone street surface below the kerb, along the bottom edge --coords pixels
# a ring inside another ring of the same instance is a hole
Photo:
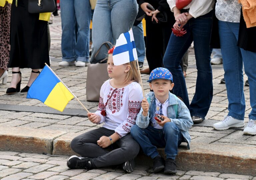
[[[0,179],[2,180],[256,180],[256,177],[204,171],[177,171],[175,175],[154,174],[149,166],[136,166],[132,173],[119,168],[100,168],[92,170],[69,169],[68,157],[50,157],[43,154],[0,151]]]

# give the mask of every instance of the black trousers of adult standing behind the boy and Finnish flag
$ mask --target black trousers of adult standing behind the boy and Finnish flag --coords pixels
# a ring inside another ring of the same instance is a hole
[[[167,23],[153,24],[152,16],[145,17],[146,20],[146,58],[150,72],[158,67],[163,67],[163,57],[167,48],[172,27],[175,23],[174,15],[167,12]]]

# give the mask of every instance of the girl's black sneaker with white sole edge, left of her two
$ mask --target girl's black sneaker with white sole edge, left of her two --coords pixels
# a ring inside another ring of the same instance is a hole
[[[78,157],[76,155],[71,156],[67,161],[67,166],[70,169],[91,169],[91,158]]]

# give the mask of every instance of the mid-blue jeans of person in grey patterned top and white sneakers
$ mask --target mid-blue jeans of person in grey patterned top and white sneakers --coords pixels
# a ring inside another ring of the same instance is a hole
[[[250,84],[250,104],[252,111],[249,114],[249,119],[256,120],[256,53],[245,51],[237,46],[238,32],[239,23],[219,21],[221,53],[228,96],[228,116],[239,120],[244,119],[244,64],[244,71],[248,76]]]

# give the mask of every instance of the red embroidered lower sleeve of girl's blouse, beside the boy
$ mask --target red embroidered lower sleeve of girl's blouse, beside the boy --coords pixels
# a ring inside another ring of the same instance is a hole
[[[126,132],[131,131],[131,127],[135,124],[138,113],[140,112],[141,101],[128,101],[128,119],[126,123],[123,124],[122,128]]]

